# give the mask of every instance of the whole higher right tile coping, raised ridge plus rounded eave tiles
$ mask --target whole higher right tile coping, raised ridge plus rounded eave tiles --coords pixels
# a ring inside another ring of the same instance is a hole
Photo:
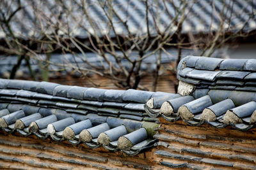
[[[188,56],[179,63],[175,97],[155,97],[145,104],[150,117],[240,131],[256,123],[256,59]]]

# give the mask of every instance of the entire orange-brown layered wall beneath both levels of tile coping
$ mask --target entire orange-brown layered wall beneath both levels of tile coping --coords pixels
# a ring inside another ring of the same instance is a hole
[[[246,132],[166,122],[159,146],[128,157],[104,148],[72,146],[36,136],[0,132],[1,169],[256,169],[256,129]]]

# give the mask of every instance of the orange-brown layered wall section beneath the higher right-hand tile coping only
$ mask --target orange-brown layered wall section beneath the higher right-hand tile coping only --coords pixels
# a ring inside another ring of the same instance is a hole
[[[207,124],[191,127],[182,120],[170,123],[163,118],[160,122],[155,137],[162,146],[154,149],[159,164],[189,169],[256,169],[255,129],[241,132]]]

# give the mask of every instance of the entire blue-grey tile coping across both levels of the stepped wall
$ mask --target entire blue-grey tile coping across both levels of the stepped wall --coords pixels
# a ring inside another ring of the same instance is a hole
[[[154,146],[159,116],[246,131],[256,120],[255,63],[188,56],[178,66],[178,94],[1,79],[0,126],[128,155]]]

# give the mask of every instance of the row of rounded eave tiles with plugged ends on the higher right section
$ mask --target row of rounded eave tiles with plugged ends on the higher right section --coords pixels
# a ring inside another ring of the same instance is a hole
[[[182,118],[190,125],[204,122],[213,127],[232,127],[246,131],[256,124],[256,93],[197,89],[193,96],[155,97],[145,104],[150,117],[175,122]]]

